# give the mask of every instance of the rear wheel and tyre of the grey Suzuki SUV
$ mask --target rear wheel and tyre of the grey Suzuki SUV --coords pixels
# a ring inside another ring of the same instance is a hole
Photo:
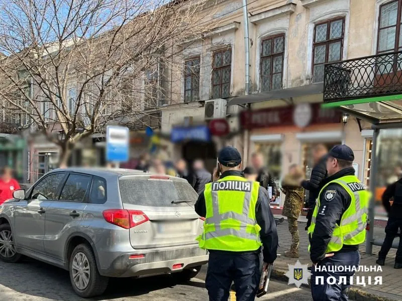
[[[80,244],[74,248],[68,270],[71,285],[81,297],[101,295],[108,286],[109,278],[99,274],[95,256],[87,244]]]

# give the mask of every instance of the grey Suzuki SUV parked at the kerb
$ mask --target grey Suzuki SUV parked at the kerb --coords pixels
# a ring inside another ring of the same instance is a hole
[[[0,206],[0,259],[26,255],[62,267],[82,297],[102,294],[108,277],[189,279],[208,261],[195,241],[203,227],[196,198],[176,177],[56,169]]]

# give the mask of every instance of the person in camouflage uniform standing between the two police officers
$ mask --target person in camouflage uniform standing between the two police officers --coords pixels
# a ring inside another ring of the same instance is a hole
[[[287,217],[289,232],[292,236],[292,244],[290,249],[285,251],[285,257],[298,258],[299,236],[297,219],[300,213],[302,213],[305,198],[305,189],[300,186],[300,181],[303,178],[303,170],[297,164],[292,164],[289,167],[289,173],[282,180],[281,190],[285,194],[282,215]]]

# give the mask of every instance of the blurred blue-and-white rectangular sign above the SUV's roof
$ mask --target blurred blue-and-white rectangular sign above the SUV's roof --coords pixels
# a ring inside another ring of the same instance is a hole
[[[106,160],[127,162],[129,160],[129,129],[119,126],[106,127]]]

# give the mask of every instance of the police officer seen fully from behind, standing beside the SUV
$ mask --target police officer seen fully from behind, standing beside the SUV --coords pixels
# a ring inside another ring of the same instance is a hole
[[[268,193],[258,182],[243,177],[236,148],[223,148],[218,162],[220,178],[214,174],[214,182],[206,184],[195,204],[196,213],[206,218],[198,238],[200,248],[210,252],[206,287],[210,301],[227,301],[234,281],[238,301],[254,300],[261,245],[267,263],[276,259],[278,247]]]

